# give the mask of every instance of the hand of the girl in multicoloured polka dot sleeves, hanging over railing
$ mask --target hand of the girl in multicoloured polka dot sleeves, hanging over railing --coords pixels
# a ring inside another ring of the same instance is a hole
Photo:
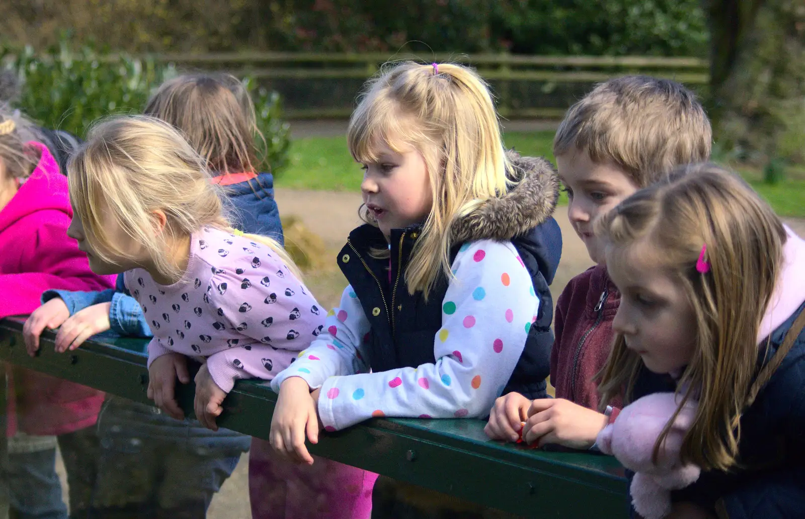
[[[304,445],[307,433],[310,443],[319,443],[323,429],[318,411],[319,390],[311,393],[308,382],[291,377],[279,387],[279,397],[271,418],[269,439],[280,454],[297,463],[313,464],[313,457]]]

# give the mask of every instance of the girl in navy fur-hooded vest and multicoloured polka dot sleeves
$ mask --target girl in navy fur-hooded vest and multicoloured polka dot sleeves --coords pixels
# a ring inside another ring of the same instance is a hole
[[[504,389],[544,396],[553,340],[555,171],[506,153],[479,76],[399,64],[370,81],[348,140],[367,222],[338,256],[350,285],[271,383],[270,441],[307,463],[320,426],[481,418]]]

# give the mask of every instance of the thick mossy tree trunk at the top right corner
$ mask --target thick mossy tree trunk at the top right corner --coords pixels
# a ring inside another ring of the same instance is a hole
[[[716,144],[740,159],[805,162],[805,0],[705,0]]]

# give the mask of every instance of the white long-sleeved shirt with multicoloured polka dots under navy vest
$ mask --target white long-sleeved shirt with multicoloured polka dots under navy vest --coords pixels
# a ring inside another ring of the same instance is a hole
[[[435,364],[367,373],[369,321],[348,286],[318,340],[275,377],[272,387],[279,391],[288,377],[320,387],[319,414],[328,430],[373,416],[485,416],[518,363],[539,299],[508,242],[464,245],[452,270],[442,327],[433,340]]]

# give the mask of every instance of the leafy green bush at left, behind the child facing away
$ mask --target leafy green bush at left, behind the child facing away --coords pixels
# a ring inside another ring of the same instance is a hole
[[[105,54],[92,46],[73,51],[64,41],[42,53],[31,47],[0,47],[0,60],[19,81],[19,94],[12,101],[15,106],[43,126],[81,138],[99,117],[140,113],[156,87],[177,73],[172,64],[149,57]],[[244,81],[264,137],[258,138],[258,158],[262,167],[281,171],[287,163],[289,140],[279,94],[249,78]]]

